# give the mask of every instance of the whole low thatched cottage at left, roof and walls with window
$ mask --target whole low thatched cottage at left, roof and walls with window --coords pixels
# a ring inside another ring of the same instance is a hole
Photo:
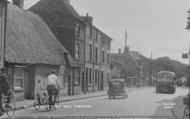
[[[22,9],[17,2],[0,1],[0,59],[4,59],[16,98],[34,98],[36,82],[41,80],[46,88],[47,76],[53,69],[67,95],[72,87],[67,78],[73,76],[71,55],[37,14]]]

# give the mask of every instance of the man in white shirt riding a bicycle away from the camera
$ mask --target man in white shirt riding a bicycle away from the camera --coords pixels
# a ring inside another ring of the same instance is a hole
[[[59,78],[55,75],[55,70],[52,70],[51,74],[47,78],[47,91],[49,95],[49,107],[54,105],[54,102],[59,94],[60,85],[59,85]],[[55,95],[54,100],[52,102],[52,95]]]

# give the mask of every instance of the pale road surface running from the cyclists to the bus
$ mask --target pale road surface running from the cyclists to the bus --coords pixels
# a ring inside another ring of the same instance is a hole
[[[188,88],[178,87],[174,94],[156,94],[155,88],[129,92],[127,99],[108,96],[61,103],[53,111],[36,111],[33,107],[15,112],[15,117],[63,116],[173,116],[175,99],[188,93]]]

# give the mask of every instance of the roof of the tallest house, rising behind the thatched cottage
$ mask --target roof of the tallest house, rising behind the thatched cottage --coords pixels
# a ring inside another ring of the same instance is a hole
[[[62,15],[64,15],[74,17],[81,23],[86,24],[77,11],[66,0],[40,0],[29,8],[29,10],[48,18],[51,22],[58,22],[61,20]]]

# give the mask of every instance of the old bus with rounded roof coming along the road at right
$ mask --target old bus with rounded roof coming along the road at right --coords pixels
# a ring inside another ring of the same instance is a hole
[[[175,93],[176,76],[174,72],[160,71],[156,79],[156,93]]]

